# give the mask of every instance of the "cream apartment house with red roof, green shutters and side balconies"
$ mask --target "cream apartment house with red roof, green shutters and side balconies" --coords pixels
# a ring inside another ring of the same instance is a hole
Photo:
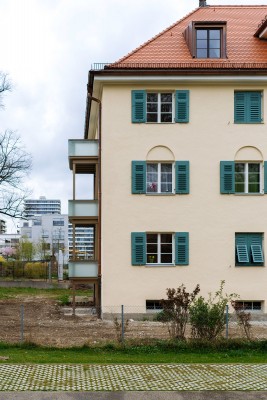
[[[95,259],[70,262],[110,305],[146,312],[182,283],[225,280],[267,312],[267,6],[199,7],[89,73],[84,139],[70,140],[73,226]],[[94,197],[76,196],[76,176]]]

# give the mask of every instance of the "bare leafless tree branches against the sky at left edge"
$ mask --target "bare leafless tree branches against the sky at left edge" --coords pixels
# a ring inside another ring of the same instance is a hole
[[[11,90],[7,74],[0,72],[0,107],[2,93]],[[20,137],[13,131],[0,132],[0,214],[20,218],[29,191],[23,180],[31,170],[32,159]]]

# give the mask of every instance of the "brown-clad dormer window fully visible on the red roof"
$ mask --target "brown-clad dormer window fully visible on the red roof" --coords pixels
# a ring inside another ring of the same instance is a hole
[[[193,58],[226,58],[226,22],[191,22],[184,36]]]

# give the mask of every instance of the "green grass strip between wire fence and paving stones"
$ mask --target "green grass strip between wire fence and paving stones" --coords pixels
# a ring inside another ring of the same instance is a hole
[[[158,344],[107,344],[102,347],[45,348],[31,344],[0,343],[0,363],[267,363],[267,341],[222,342],[221,345],[177,343],[161,341]]]

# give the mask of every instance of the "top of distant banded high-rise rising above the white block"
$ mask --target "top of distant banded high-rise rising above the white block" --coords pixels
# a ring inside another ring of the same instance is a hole
[[[27,199],[24,201],[24,217],[32,219],[35,216],[44,214],[60,214],[61,201],[48,200],[45,196],[39,199]]]

